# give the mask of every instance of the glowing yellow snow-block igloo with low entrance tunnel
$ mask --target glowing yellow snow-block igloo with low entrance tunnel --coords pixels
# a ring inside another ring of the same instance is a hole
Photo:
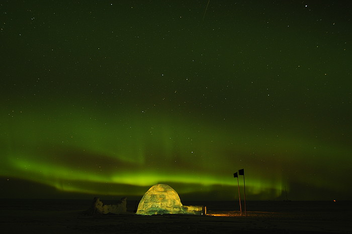
[[[170,186],[152,186],[139,202],[136,214],[206,214],[205,206],[184,206],[179,194]]]

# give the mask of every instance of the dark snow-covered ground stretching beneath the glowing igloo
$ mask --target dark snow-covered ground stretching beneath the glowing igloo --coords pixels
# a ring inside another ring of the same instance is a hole
[[[128,201],[128,200],[127,200]],[[351,233],[351,202],[250,202],[247,216],[232,202],[202,201],[200,215],[87,216],[90,200],[3,200],[3,233]],[[187,202],[184,202],[187,204]],[[192,201],[195,204],[195,201]],[[255,206],[257,208],[255,208]]]

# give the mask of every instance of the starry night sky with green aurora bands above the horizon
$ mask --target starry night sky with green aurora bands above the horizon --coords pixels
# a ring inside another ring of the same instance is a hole
[[[351,4],[207,4],[1,1],[0,197],[350,199]]]

